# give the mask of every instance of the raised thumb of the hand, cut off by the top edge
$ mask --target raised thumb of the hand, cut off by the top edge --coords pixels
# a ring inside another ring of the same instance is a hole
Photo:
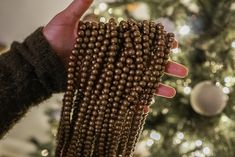
[[[74,0],[63,12],[68,19],[76,22],[90,7],[93,0]]]

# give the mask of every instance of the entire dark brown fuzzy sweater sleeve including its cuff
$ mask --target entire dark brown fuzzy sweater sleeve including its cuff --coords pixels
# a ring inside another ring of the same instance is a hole
[[[65,90],[65,66],[41,30],[0,55],[0,138],[31,106]]]

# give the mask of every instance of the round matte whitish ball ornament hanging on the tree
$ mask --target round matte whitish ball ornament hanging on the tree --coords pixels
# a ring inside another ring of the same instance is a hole
[[[228,96],[211,81],[197,84],[191,93],[190,101],[195,112],[204,116],[214,116],[223,111]]]

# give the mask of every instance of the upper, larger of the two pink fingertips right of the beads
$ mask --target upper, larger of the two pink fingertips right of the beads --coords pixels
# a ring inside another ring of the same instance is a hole
[[[188,69],[179,63],[169,61],[166,64],[165,73],[167,75],[184,78],[188,75]]]

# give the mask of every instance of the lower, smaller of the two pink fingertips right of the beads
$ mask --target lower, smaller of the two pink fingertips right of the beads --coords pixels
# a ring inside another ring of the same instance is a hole
[[[173,87],[159,83],[155,94],[160,97],[173,98],[176,94],[176,90]]]

